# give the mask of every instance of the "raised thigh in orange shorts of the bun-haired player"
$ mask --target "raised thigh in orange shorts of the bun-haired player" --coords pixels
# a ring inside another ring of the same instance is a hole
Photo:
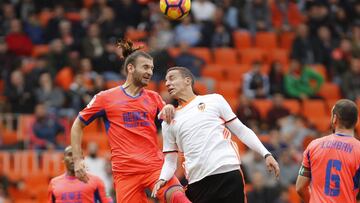
[[[154,185],[157,180],[159,180],[161,170],[155,171],[153,173],[150,173],[148,176],[148,187],[152,190],[154,188]],[[166,182],[166,184],[160,188],[160,190],[157,193],[157,198],[161,202],[166,202],[166,196],[171,196],[171,193],[176,190],[182,190],[183,187],[179,180],[173,176],[169,181]]]

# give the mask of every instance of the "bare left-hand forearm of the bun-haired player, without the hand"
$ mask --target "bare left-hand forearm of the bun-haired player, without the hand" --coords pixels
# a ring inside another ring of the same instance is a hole
[[[82,158],[81,141],[83,136],[83,128],[86,125],[77,117],[71,127],[71,147],[74,159]]]

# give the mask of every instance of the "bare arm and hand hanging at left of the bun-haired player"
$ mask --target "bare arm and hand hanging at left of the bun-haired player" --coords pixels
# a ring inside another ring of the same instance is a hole
[[[84,127],[85,124],[83,124],[79,118],[76,118],[71,127],[71,147],[73,150],[72,156],[74,159],[75,176],[86,183],[89,181],[89,177],[86,174],[85,163],[81,151],[81,140]]]

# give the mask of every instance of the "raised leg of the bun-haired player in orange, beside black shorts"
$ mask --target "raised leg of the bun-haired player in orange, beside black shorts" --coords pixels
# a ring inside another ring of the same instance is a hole
[[[149,187],[152,189],[159,179],[161,170],[150,173],[148,176]],[[184,189],[179,180],[173,176],[167,183],[160,188],[157,193],[157,198],[160,202],[167,203],[189,203],[189,199],[186,197]]]

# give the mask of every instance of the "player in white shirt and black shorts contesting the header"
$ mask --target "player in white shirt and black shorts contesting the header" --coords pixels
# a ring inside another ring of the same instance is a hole
[[[197,96],[193,84],[194,76],[187,68],[172,67],[167,71],[166,87],[179,106],[172,123],[162,124],[165,161],[152,195],[156,196],[174,175],[180,151],[185,156],[189,182],[186,195],[192,202],[246,202],[240,157],[231,132],[261,154],[276,177],[279,165],[255,133],[236,117],[224,97]]]

